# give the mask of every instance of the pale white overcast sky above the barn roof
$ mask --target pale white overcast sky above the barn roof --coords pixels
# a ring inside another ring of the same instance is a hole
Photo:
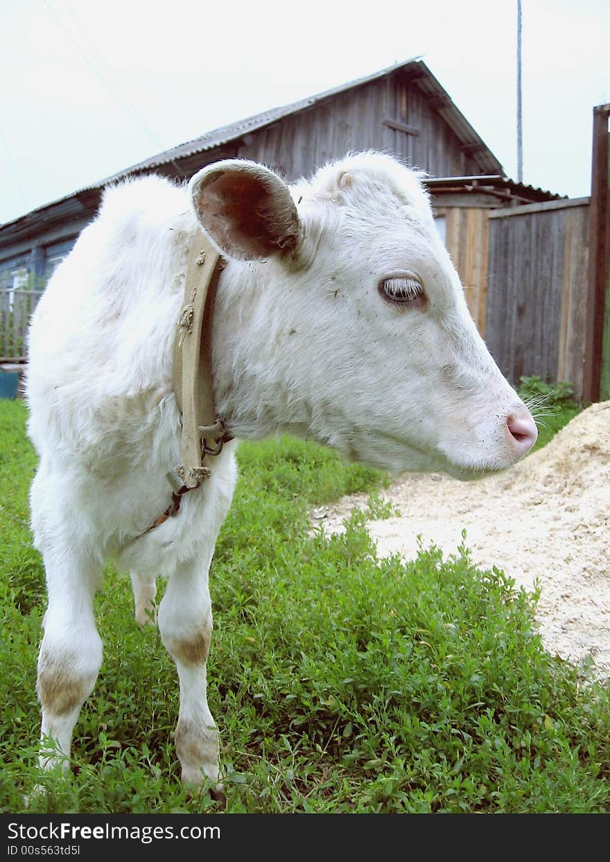
[[[590,191],[610,3],[522,0],[524,182]],[[517,0],[0,0],[0,222],[420,56],[516,177]]]

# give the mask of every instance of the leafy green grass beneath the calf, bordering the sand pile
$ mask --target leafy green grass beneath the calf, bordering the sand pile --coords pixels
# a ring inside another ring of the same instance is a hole
[[[22,811],[44,784],[30,811],[216,811],[206,790],[188,799],[180,785],[175,671],[112,569],[72,774],[36,767],[45,598],[24,420],[22,404],[0,402],[0,810]],[[535,596],[478,571],[464,547],[377,559],[362,513],[344,535],[309,535],[308,506],[374,494],[381,473],[296,440],[242,445],[239,459],[210,578],[229,812],[610,810],[610,690],[545,652]]]

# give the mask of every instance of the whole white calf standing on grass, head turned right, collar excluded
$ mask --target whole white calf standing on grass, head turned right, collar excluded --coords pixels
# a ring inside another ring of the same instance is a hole
[[[289,433],[393,472],[476,478],[513,465],[536,427],[470,319],[418,175],[356,154],[286,186],[246,161],[188,191],[148,177],[111,188],[48,284],[30,334],[31,491],[47,571],[42,734],[69,753],[102,644],[93,596],[103,561],[131,572],[136,618],[169,578],[159,629],[177,665],[183,779],[218,781],[206,700],[208,570],[235,482],[233,450],[176,517],[181,418],[172,352],[199,230],[227,265],[213,319],[217,415],[230,434]],[[49,762],[53,762],[52,760]]]

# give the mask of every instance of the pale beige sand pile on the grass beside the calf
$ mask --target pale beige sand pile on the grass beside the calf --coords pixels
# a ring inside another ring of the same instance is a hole
[[[545,646],[563,659],[594,659],[610,677],[610,402],[593,404],[514,470],[481,482],[405,476],[383,493],[401,513],[369,522],[380,555],[417,553],[417,536],[445,554],[461,533],[477,565],[498,565],[519,586],[541,586]],[[314,512],[328,533],[366,497]]]

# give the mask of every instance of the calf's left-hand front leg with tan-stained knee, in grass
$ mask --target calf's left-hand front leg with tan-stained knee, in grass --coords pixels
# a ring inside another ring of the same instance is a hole
[[[44,555],[48,605],[38,657],[37,691],[42,707],[40,765],[68,769],[72,730],[102,665],[102,641],[93,616],[99,572],[70,551]],[[59,752],[45,753],[50,737]]]

